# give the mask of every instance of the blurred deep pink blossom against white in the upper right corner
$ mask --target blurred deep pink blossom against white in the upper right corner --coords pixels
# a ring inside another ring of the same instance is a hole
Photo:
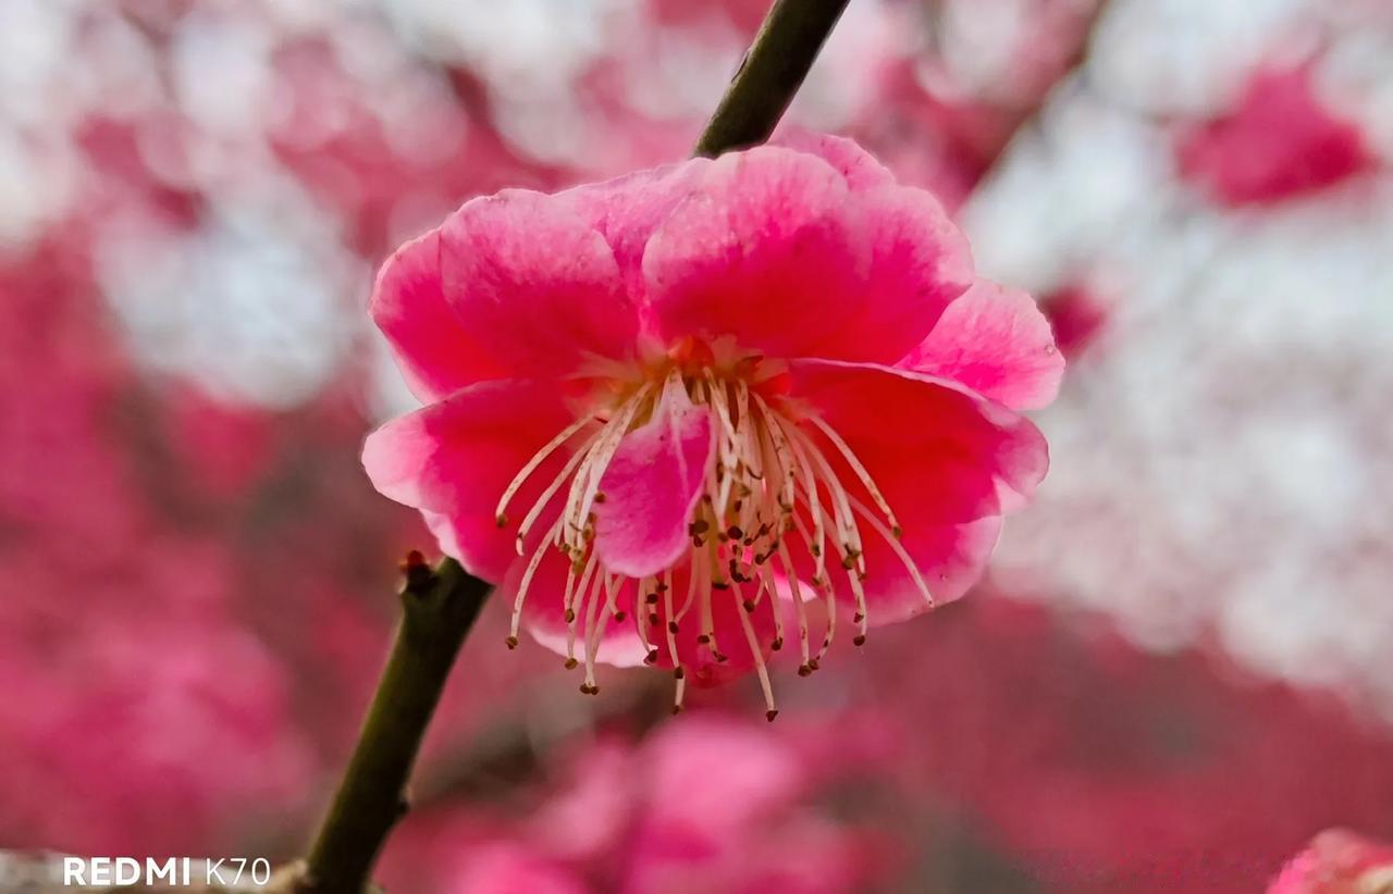
[[[1322,100],[1312,78],[1309,65],[1255,72],[1231,111],[1180,138],[1181,174],[1226,205],[1261,205],[1369,170],[1358,124]]]

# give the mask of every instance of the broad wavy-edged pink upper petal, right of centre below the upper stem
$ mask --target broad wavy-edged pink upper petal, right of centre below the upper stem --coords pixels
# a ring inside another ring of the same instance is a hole
[[[649,240],[644,277],[669,341],[893,362],[971,283],[971,258],[928,192],[851,191],[820,157],[758,146],[703,168]]]

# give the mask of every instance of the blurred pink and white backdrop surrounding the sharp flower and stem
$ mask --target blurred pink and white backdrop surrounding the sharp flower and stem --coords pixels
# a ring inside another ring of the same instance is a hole
[[[674,160],[763,0],[0,0],[0,848],[304,847],[430,540],[365,306]],[[391,891],[1254,891],[1393,838],[1393,6],[853,0],[790,120],[1071,359],[988,579],[809,681],[602,693],[489,606]]]

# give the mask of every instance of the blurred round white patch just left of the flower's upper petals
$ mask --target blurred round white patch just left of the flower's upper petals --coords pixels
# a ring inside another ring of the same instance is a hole
[[[309,400],[336,376],[359,329],[343,297],[371,277],[284,181],[244,184],[189,233],[113,221],[98,273],[138,358],[269,407]]]

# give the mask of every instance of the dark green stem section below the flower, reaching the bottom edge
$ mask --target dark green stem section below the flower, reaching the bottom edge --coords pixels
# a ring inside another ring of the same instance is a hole
[[[348,769],[315,838],[297,890],[365,890],[387,833],[408,808],[407,777],[446,677],[492,588],[453,558],[407,563],[401,625]]]

